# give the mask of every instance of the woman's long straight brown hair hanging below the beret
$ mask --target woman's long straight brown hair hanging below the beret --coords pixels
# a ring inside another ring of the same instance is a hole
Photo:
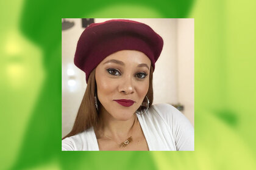
[[[153,67],[151,66],[151,70],[149,73],[149,90],[146,96],[149,98],[149,107],[152,106],[153,103]],[[88,78],[87,88],[85,90],[84,97],[80,104],[79,110],[77,112],[76,120],[74,121],[74,126],[71,132],[67,134],[65,137],[71,137],[73,135],[79,134],[80,132],[84,132],[89,129],[91,126],[96,126],[98,122],[98,111],[94,105],[94,94],[97,93],[97,84],[95,81],[95,69],[90,73],[90,77]],[[143,102],[146,101],[144,98]],[[99,103],[99,100],[97,101]],[[98,104],[99,106],[99,104]],[[139,108],[141,109],[141,107]]]

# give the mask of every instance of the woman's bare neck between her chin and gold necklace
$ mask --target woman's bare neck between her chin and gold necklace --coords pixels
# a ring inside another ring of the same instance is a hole
[[[99,138],[105,136],[113,138],[118,141],[126,140],[132,134],[132,129],[137,123],[137,116],[134,114],[129,120],[116,120],[110,115],[107,110],[100,110],[100,118],[98,126]]]

